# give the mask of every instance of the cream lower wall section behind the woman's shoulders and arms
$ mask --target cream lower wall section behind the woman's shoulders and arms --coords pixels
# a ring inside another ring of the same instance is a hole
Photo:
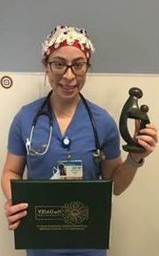
[[[0,172],[6,153],[7,133],[10,121],[19,107],[43,96],[48,91],[44,87],[44,74],[40,73],[0,73],[10,75],[13,86],[0,86]],[[130,87],[140,87],[144,96],[141,103],[149,105],[149,117],[159,127],[158,117],[158,75],[88,75],[83,93],[93,102],[109,110],[117,124],[121,108],[128,98]],[[121,144],[123,141],[121,140]],[[123,153],[123,158],[126,153]],[[108,256],[158,256],[159,238],[159,186],[158,147],[140,168],[135,180],[125,193],[114,196],[112,215],[112,243]],[[24,251],[14,250],[13,233],[7,230],[3,211],[3,193],[0,193],[0,255],[23,256]]]

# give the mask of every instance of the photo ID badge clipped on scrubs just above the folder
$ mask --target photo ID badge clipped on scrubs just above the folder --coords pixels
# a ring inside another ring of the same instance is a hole
[[[83,166],[81,160],[60,160],[57,162],[56,172],[52,180],[81,180],[83,178]]]

